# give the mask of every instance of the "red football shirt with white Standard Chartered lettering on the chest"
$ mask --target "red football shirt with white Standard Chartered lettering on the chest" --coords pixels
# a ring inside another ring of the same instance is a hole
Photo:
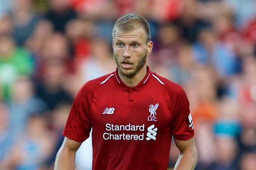
[[[166,170],[172,136],[194,135],[183,89],[149,68],[134,88],[117,71],[83,85],[63,134],[83,142],[91,128],[93,170]]]

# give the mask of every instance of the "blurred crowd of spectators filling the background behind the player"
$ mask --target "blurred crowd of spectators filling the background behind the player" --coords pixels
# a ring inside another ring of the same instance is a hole
[[[76,93],[115,70],[113,24],[136,13],[150,24],[151,71],[189,98],[196,170],[255,170],[255,8],[256,0],[0,0],[0,169],[53,169]],[[91,169],[88,141],[77,170]],[[178,154],[172,142],[170,169]]]

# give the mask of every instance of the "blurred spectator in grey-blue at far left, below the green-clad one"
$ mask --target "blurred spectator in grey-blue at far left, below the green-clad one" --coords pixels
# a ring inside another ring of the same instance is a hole
[[[14,136],[26,129],[29,116],[43,114],[47,110],[45,103],[38,99],[28,77],[18,77],[12,86],[12,98],[9,102],[10,127]]]

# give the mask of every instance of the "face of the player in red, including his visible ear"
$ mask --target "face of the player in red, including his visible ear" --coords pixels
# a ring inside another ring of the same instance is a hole
[[[134,77],[145,67],[147,55],[151,53],[153,43],[146,43],[146,34],[143,28],[122,32],[116,30],[113,40],[113,53],[120,74],[125,77]]]

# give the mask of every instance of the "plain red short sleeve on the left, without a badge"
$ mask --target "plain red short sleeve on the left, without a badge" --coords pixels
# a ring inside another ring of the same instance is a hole
[[[90,135],[90,100],[84,86],[73,101],[63,135],[76,142],[83,142]]]

